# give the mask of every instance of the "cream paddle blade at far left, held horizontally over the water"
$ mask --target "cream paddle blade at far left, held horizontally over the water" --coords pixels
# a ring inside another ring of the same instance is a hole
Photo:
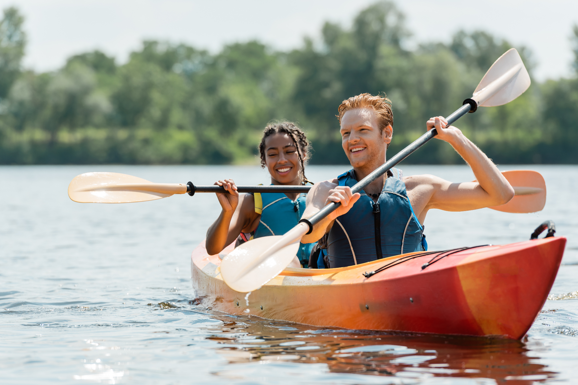
[[[187,186],[176,183],[152,183],[118,173],[86,173],[68,185],[68,196],[80,203],[131,203],[184,194]]]

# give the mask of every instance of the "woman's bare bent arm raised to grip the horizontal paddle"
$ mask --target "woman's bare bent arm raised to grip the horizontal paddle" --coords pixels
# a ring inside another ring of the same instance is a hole
[[[255,212],[253,195],[239,196],[233,180],[215,183],[224,186],[226,193],[217,193],[221,204],[221,214],[207,230],[205,246],[209,255],[223,251],[227,245],[235,241],[242,230],[251,231],[259,215]]]

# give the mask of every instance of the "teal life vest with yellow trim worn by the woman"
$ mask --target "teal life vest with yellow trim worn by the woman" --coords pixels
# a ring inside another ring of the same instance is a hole
[[[282,236],[297,226],[303,211],[305,211],[306,195],[301,194],[292,201],[284,193],[254,193],[255,212],[261,214],[259,225],[253,238]],[[309,256],[317,242],[299,244],[297,257],[299,263],[307,266]]]

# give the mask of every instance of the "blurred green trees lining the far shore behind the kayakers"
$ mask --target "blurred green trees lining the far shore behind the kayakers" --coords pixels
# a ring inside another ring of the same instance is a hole
[[[391,2],[362,10],[350,28],[325,23],[321,39],[273,51],[257,41],[220,53],[144,41],[127,63],[101,51],[60,70],[21,68],[26,36],[14,8],[0,21],[0,163],[252,163],[264,126],[298,122],[313,141],[311,163],[347,163],[339,103],[385,93],[394,109],[390,154],[420,136],[425,121],[468,98],[510,44],[485,31],[409,50],[410,31]],[[578,74],[578,26],[573,28]],[[517,47],[532,75],[529,51]],[[498,163],[578,163],[578,78],[533,82],[520,98],[458,126]],[[463,162],[433,141],[406,162]]]

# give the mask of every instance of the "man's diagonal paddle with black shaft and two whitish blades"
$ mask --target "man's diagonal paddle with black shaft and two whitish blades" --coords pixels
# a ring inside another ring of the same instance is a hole
[[[530,77],[520,55],[514,48],[508,50],[492,64],[472,98],[464,100],[462,107],[446,118],[447,126],[466,113],[475,112],[478,106],[500,106],[516,99],[530,85]],[[367,175],[351,188],[360,192],[407,156],[436,136],[431,129],[419,139],[394,155],[386,163]],[[234,249],[221,261],[221,276],[231,289],[247,292],[265,285],[291,263],[299,248],[299,240],[312,231],[313,226],[339,207],[329,203],[309,219],[302,219],[297,226],[283,236],[255,238]]]

